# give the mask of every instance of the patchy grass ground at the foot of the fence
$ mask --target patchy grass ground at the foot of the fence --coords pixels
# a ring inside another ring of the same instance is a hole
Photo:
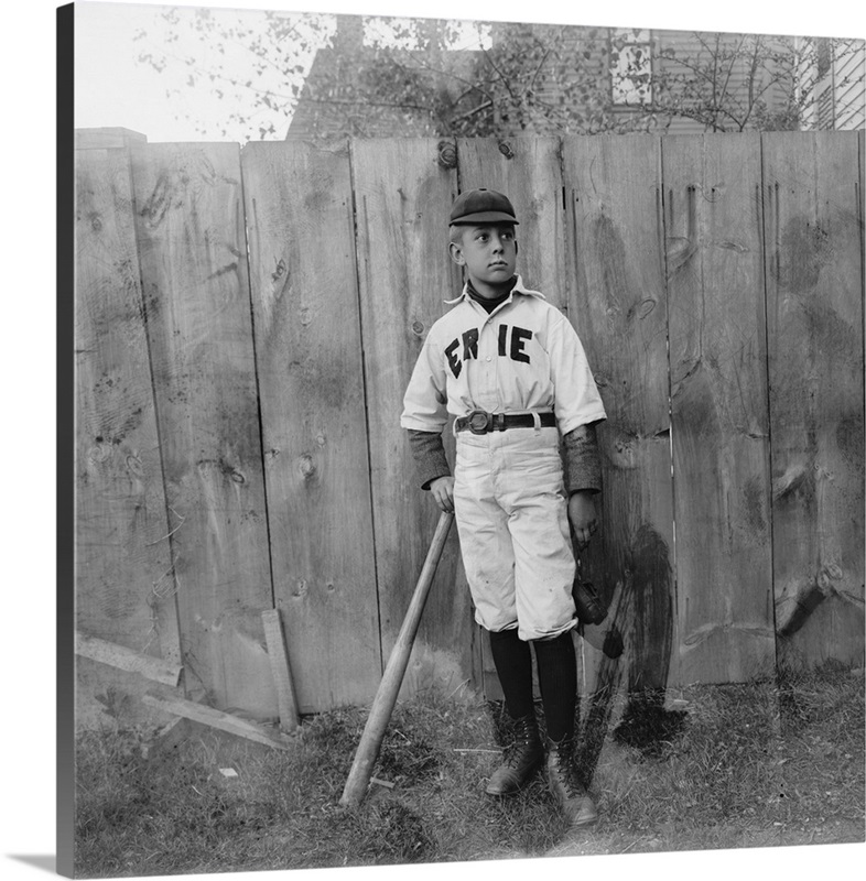
[[[862,671],[694,686],[678,698],[674,710],[634,698],[614,708],[593,765],[600,819],[580,833],[565,828],[540,777],[512,798],[484,795],[507,731],[500,707],[468,699],[399,705],[375,771],[392,787],[374,784],[351,809],[337,803],[365,721],[358,709],[305,720],[289,752],[197,728],[148,761],[141,731],[86,732],[77,874],[864,840]]]

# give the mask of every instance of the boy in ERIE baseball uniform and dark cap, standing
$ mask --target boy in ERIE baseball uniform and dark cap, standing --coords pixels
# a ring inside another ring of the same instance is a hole
[[[465,284],[431,328],[403,401],[421,486],[454,511],[476,621],[513,720],[515,742],[487,792],[518,792],[546,764],[549,785],[573,826],[597,812],[573,763],[577,623],[570,536],[586,545],[600,491],[596,423],[605,410],[583,346],[565,316],[526,287],[517,263],[515,209],[501,193],[473,189],[450,217],[452,260]],[[455,417],[452,476],[442,444]],[[563,477],[564,439],[569,485]],[[546,750],[535,724],[535,653]],[[546,753],[546,762],[545,762]]]

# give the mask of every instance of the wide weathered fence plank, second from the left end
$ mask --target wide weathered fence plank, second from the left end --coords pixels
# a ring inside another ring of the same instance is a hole
[[[267,714],[272,596],[238,154],[131,151],[185,684]]]

